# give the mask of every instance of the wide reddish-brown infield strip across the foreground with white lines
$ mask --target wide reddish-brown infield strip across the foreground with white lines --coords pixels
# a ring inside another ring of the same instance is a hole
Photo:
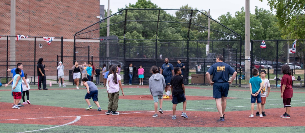
[[[1,103],[0,123],[62,125],[81,119],[70,125],[78,126],[115,126],[120,127],[279,127],[305,126],[304,107],[292,107],[291,118],[279,117],[284,108],[266,109],[267,117],[249,118],[250,111],[225,112],[225,121],[219,122],[218,112],[187,111],[189,119],[178,117],[171,120],[172,111],[164,110],[159,117],[152,117],[152,111],[120,111],[120,115],[105,115],[106,110],[91,110],[50,107],[41,105],[25,105],[21,109],[12,109],[12,103]],[[180,111],[177,111],[180,112]],[[180,113],[177,114],[179,116]],[[11,120],[17,119],[17,120]],[[167,121],[164,121],[167,119]],[[100,120],[100,121],[97,121]],[[108,122],[107,122],[108,121]],[[109,122],[112,121],[112,122]],[[166,124],[165,124],[166,123]]]

